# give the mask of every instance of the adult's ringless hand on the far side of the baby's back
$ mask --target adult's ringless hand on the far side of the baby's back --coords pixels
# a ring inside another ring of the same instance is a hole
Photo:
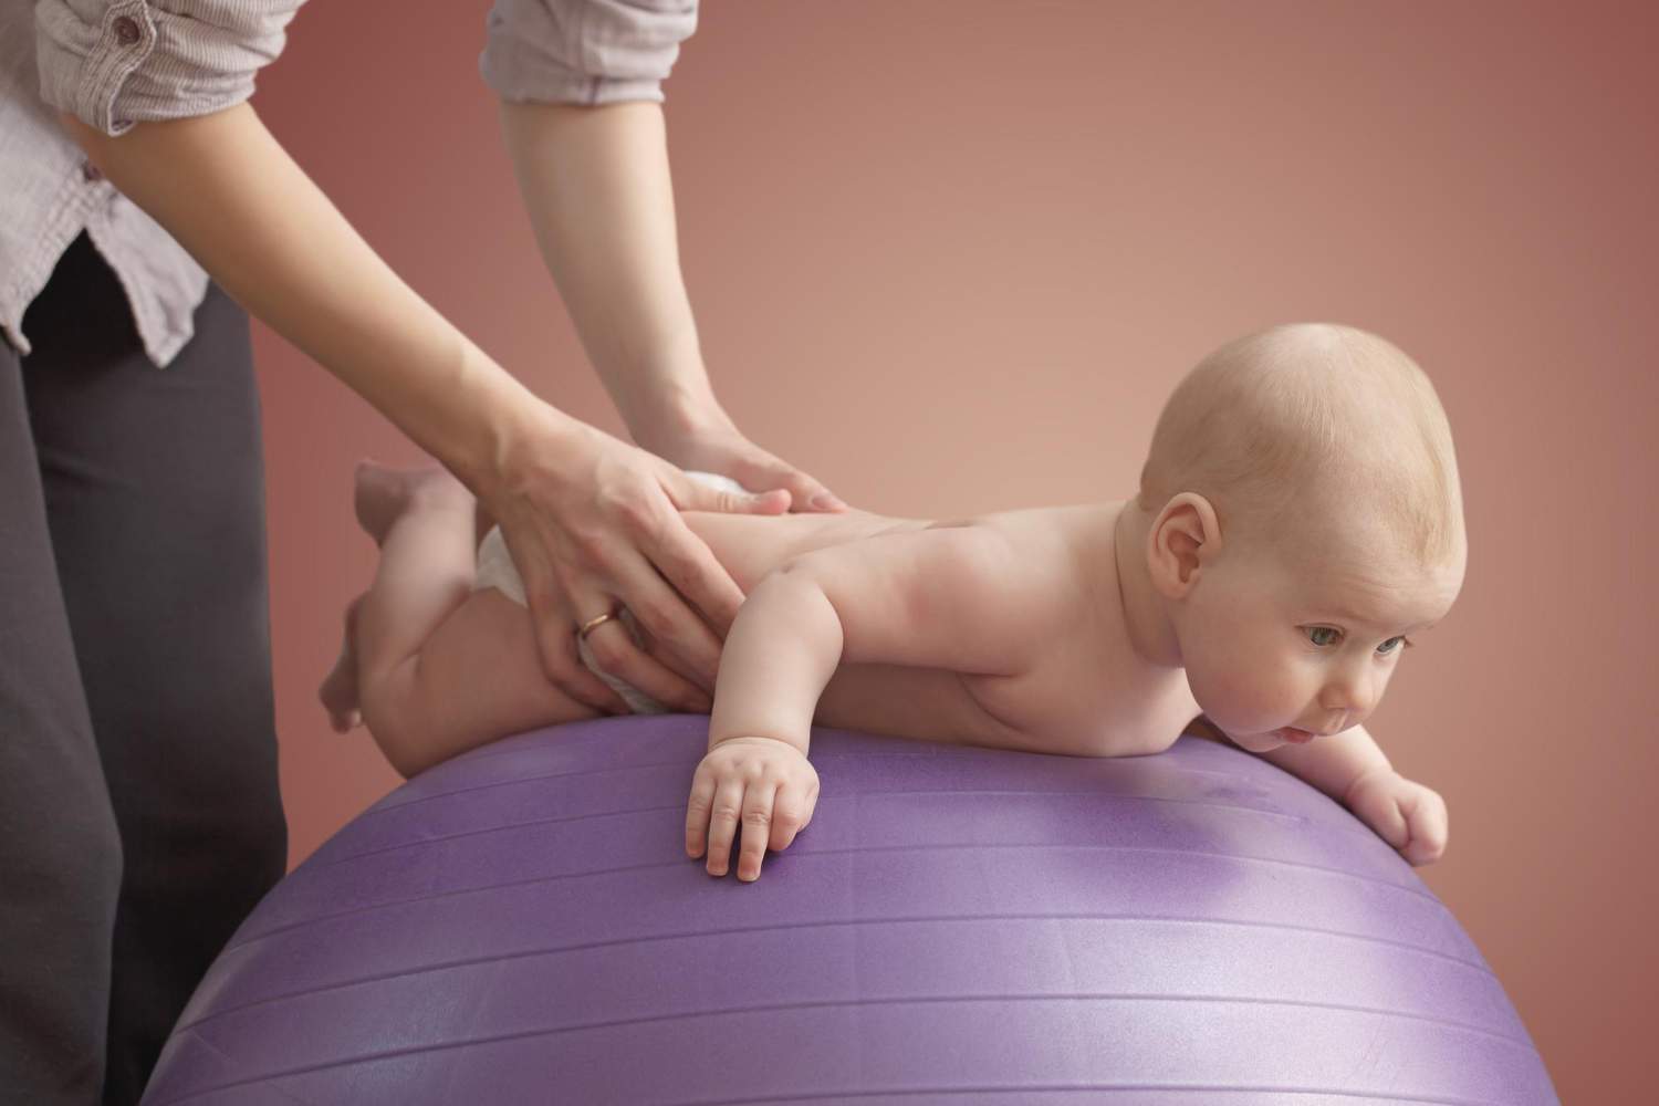
[[[690,413],[654,413],[637,420],[634,441],[659,458],[693,473],[730,476],[753,492],[783,489],[790,492],[790,511],[846,511],[828,488],[788,461],[766,453],[737,428],[712,398]]]

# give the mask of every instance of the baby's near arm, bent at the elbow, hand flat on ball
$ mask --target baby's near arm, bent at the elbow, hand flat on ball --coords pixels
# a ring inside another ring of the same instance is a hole
[[[985,526],[881,534],[768,574],[720,657],[708,756],[685,814],[685,851],[723,876],[742,824],[738,879],[760,876],[813,813],[813,711],[841,662],[1014,675],[1052,637],[1058,559]]]

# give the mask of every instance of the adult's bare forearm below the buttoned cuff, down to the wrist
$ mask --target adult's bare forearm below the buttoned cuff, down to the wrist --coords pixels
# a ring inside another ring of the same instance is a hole
[[[247,104],[121,138],[63,123],[252,315],[491,494],[531,420],[561,418],[421,300]]]

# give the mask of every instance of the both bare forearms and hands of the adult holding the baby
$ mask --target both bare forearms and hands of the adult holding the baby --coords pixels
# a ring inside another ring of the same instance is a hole
[[[620,642],[611,670],[664,701],[707,698],[743,594],[680,511],[836,511],[839,501],[743,438],[715,400],[680,279],[660,108],[504,114],[538,240],[637,446],[538,400],[421,300],[251,104],[119,138],[68,114],[63,124],[237,302],[479,496],[526,579],[549,680],[596,708],[627,710],[577,660],[569,632],[620,602],[652,610],[662,648]],[[687,463],[766,494],[697,488],[677,468]]]

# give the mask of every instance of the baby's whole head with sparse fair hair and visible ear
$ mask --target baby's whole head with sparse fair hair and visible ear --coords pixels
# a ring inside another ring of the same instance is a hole
[[[1256,753],[1362,723],[1463,584],[1440,401],[1350,327],[1206,357],[1165,405],[1135,506],[1193,695]]]

